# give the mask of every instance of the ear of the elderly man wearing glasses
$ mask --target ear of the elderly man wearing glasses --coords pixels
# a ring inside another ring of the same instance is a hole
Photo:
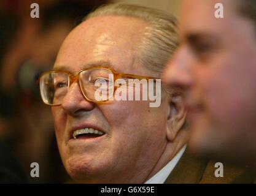
[[[187,112],[185,110],[184,99],[181,95],[173,95],[169,100],[167,110],[167,138],[173,141],[179,130],[185,123]]]

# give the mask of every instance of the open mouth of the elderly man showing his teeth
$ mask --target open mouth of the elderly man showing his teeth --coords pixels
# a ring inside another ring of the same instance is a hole
[[[104,135],[105,133],[97,130],[97,129],[93,129],[93,128],[84,128],[84,129],[78,129],[75,130],[73,132],[73,138],[77,139],[77,138],[96,138],[96,137],[101,137],[102,135]]]

